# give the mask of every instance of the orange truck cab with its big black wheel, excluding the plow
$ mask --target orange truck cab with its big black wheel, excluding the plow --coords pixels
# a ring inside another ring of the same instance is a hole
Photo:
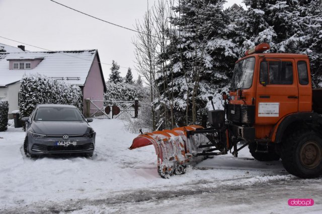
[[[322,116],[312,111],[309,58],[263,53],[268,49],[262,43],[235,63],[225,104],[229,140],[246,141],[257,160],[282,158],[290,173],[316,176],[322,173]]]

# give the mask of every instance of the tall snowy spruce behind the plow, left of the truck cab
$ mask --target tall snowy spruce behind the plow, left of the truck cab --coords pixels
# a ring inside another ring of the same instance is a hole
[[[174,8],[180,16],[171,18],[175,33],[159,59],[161,63],[172,64],[168,64],[165,74],[159,72],[157,82],[161,102],[170,99],[168,91],[164,90],[164,82],[169,86],[167,90],[173,91],[178,125],[201,121],[207,111],[207,96],[220,92],[229,82],[237,57],[236,45],[230,38],[229,17],[222,11],[223,3],[182,0]],[[197,119],[187,121],[185,118],[194,111]]]

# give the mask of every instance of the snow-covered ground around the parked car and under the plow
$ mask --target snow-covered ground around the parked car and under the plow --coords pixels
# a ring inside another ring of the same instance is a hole
[[[198,198],[197,201],[206,201],[206,199],[202,200],[203,197],[207,198],[204,193],[214,197],[213,204],[198,203],[202,208],[199,210],[212,212],[213,209],[210,207],[214,207],[216,198],[223,199],[218,194],[220,191],[225,194],[224,191],[227,188],[234,189],[241,186],[256,189],[259,187],[262,189],[259,191],[265,195],[272,193],[267,192],[267,189],[273,187],[278,189],[277,186],[281,185],[281,182],[286,186],[290,183],[293,187],[299,183],[298,188],[304,188],[301,184],[303,182],[306,182],[306,186],[316,185],[317,187],[312,189],[317,192],[306,196],[314,199],[313,208],[305,207],[307,209],[298,209],[298,212],[322,210],[321,179],[299,180],[289,175],[280,161],[254,160],[248,148],[241,150],[238,158],[232,157],[231,154],[216,156],[196,167],[189,167],[186,174],[162,179],[157,174],[153,146],[128,149],[137,135],[128,133],[124,129],[123,121],[94,120],[91,126],[97,132],[96,148],[92,158],[79,156],[27,158],[22,148],[25,132],[21,128],[9,127],[6,132],[0,132],[2,152],[0,213],[134,212],[135,207],[137,212],[142,212],[144,209],[146,212],[160,212],[161,210],[151,208],[151,206],[160,206],[158,201],[168,205],[182,203],[191,206],[194,198]],[[299,197],[294,195],[297,187],[294,191],[288,191],[288,198]],[[310,191],[307,190],[308,193]],[[247,194],[248,192],[237,191],[236,196],[254,197],[254,194]],[[173,195],[177,195],[178,198],[173,198]],[[286,197],[284,201],[285,208],[290,209],[287,205],[288,198]],[[265,200],[265,197],[262,199]],[[234,199],[234,193],[232,193],[229,196],[230,202],[225,201],[227,207],[234,200],[238,198]],[[186,205],[182,205],[182,212]],[[71,208],[68,208],[69,206]],[[252,210],[248,209],[247,203],[243,203],[242,207],[244,210]],[[165,210],[170,211],[170,209]],[[173,210],[180,212],[180,209]]]

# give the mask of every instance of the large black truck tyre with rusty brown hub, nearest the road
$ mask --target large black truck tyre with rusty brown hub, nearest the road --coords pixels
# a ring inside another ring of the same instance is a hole
[[[295,130],[282,144],[282,163],[285,169],[301,178],[322,174],[322,137],[309,130]]]

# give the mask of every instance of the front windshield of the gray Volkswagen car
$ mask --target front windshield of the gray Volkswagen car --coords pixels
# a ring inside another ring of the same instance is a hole
[[[84,121],[77,109],[46,107],[39,108],[35,121]]]

